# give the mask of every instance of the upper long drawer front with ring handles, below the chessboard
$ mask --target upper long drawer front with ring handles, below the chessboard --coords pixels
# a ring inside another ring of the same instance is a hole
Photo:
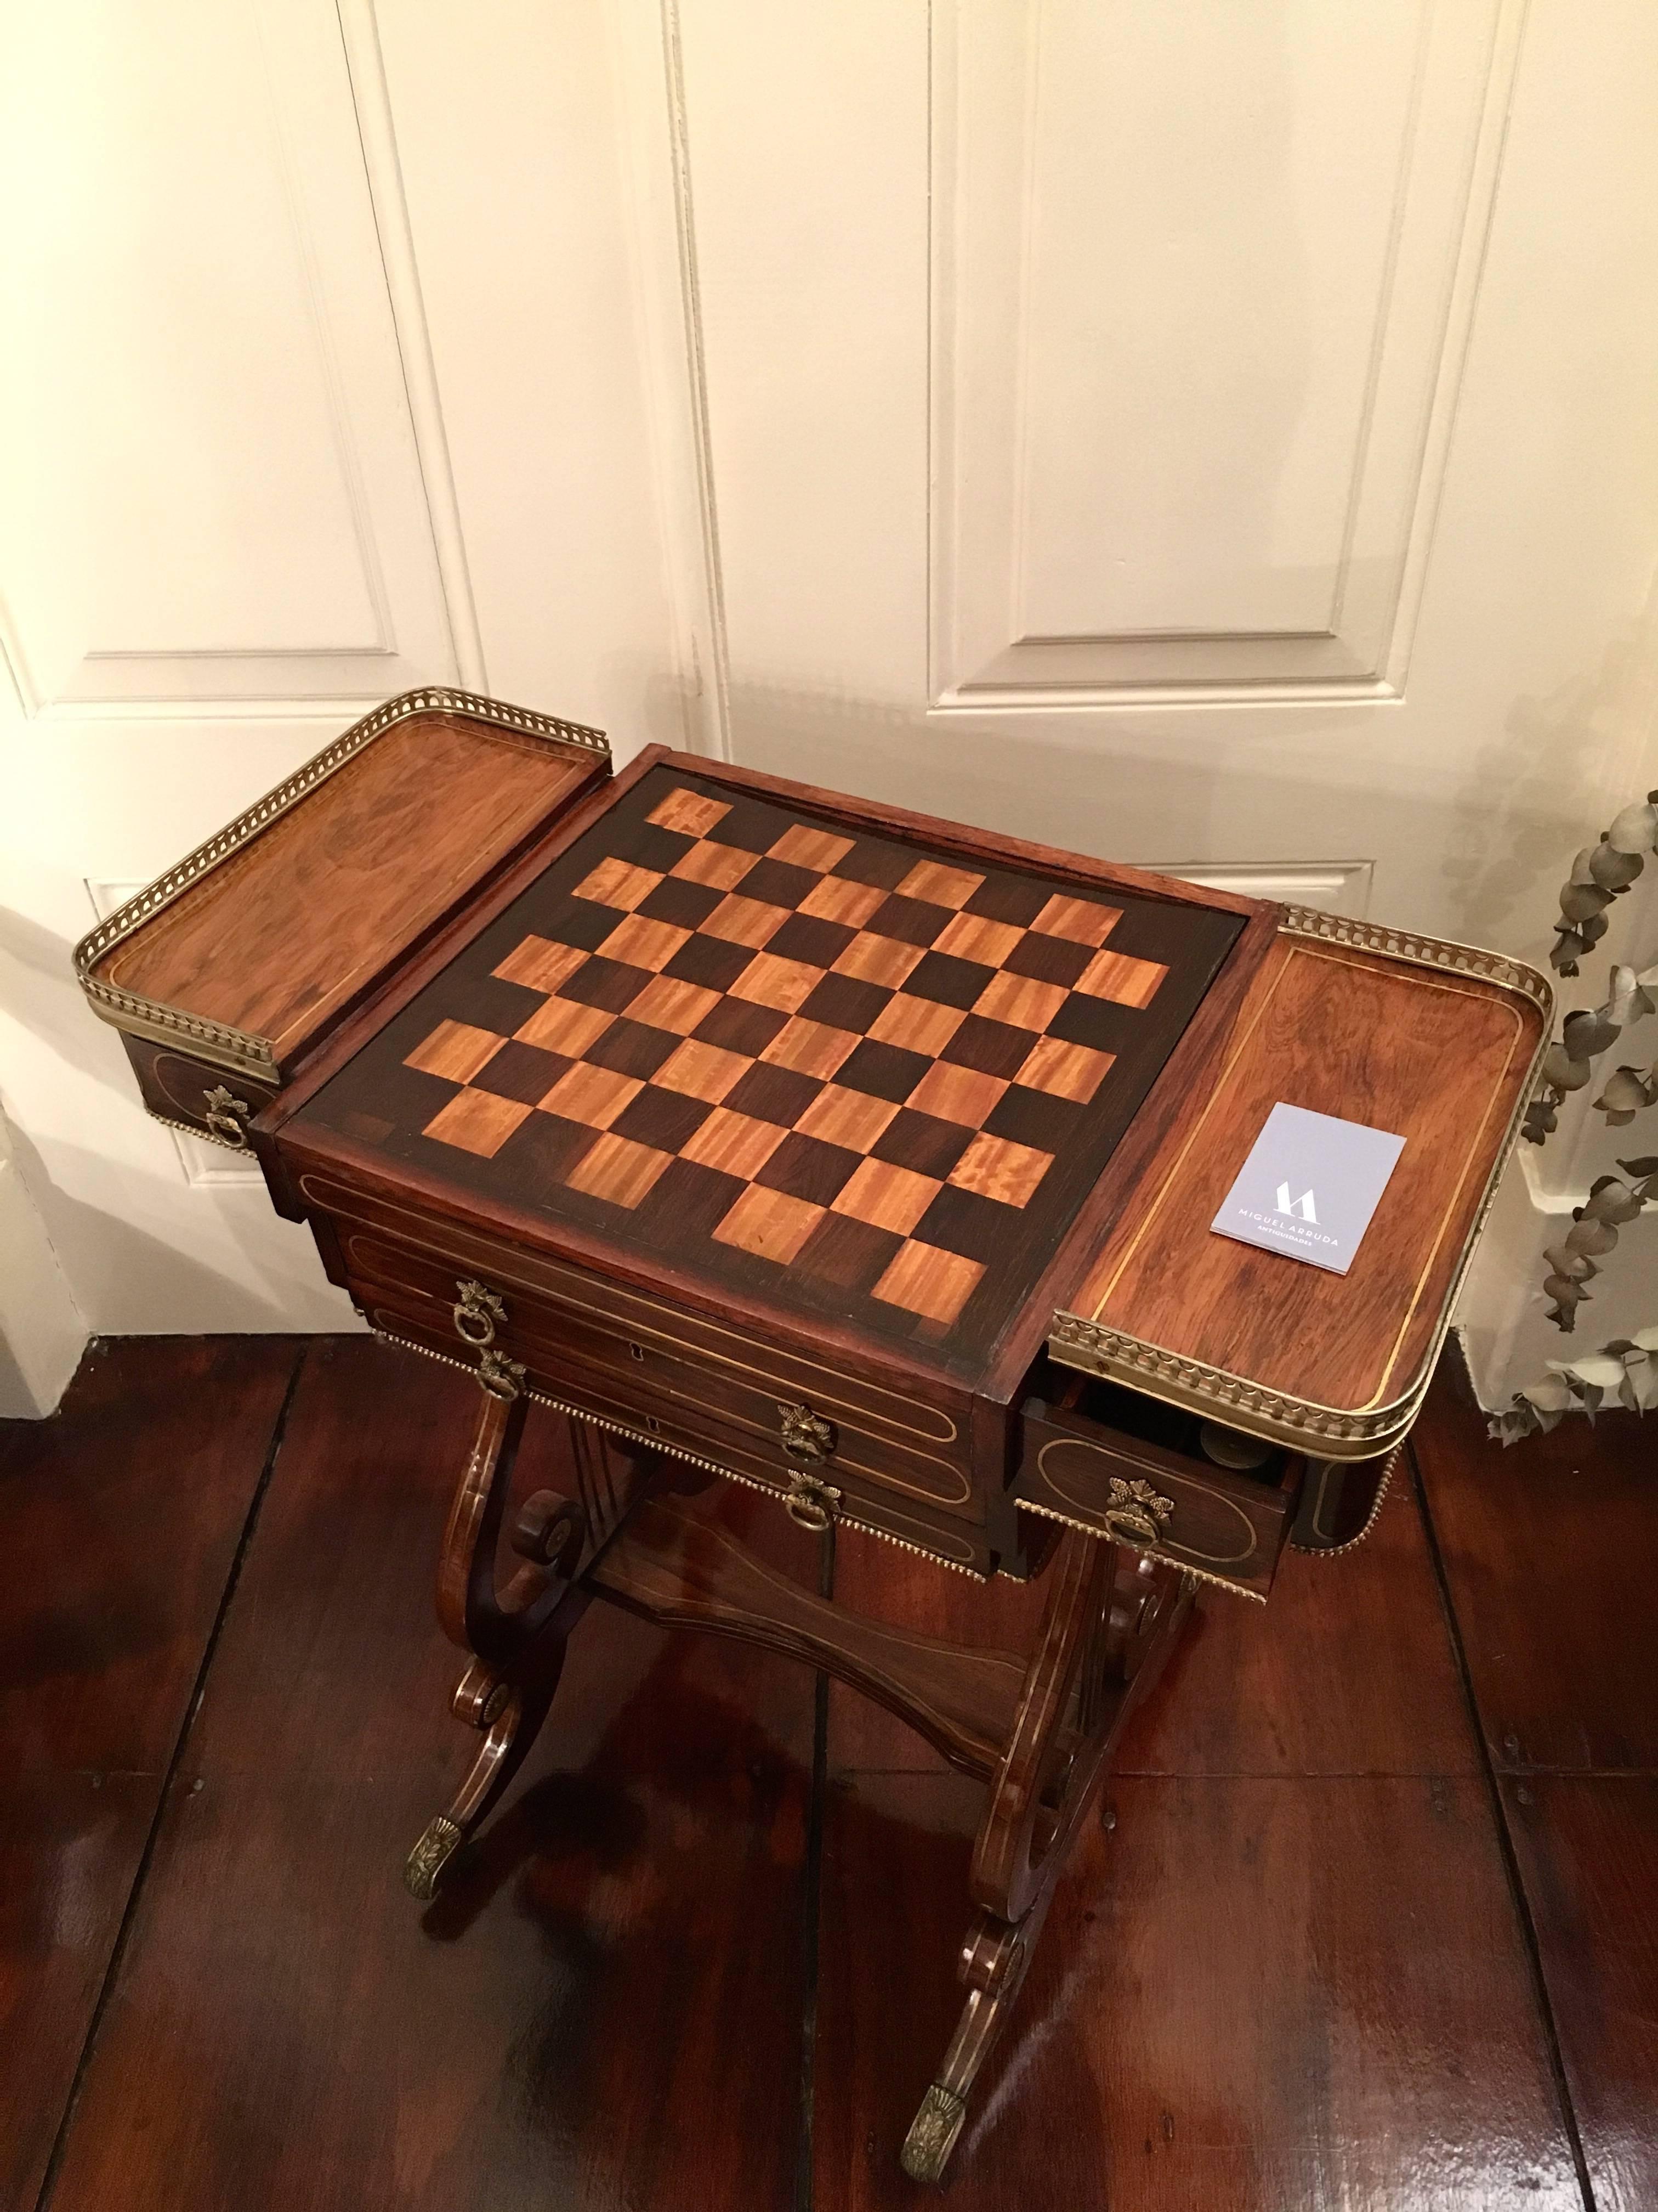
[[[661,1310],[641,1310],[634,1332],[626,1332],[604,1307],[577,1307],[546,1292],[508,1285],[497,1272],[466,1276],[453,1263],[409,1250],[376,1230],[338,1223],[347,1281],[360,1301],[391,1298],[400,1310],[451,1336],[449,1349],[497,1343],[531,1374],[564,1374],[579,1365],[610,1376],[626,1400],[672,1405],[692,1422],[712,1420],[752,1436],[787,1478],[789,1460],[807,1464],[822,1455],[856,1486],[891,1491],[911,1509],[946,1513],[953,1520],[984,1520],[984,1500],[962,1467],[898,1444],[858,1420],[856,1409],[820,1394],[807,1398],[769,1378],[749,1378],[734,1360],[699,1356],[661,1327]],[[462,1283],[475,1283],[475,1310],[462,1305]],[[537,1385],[539,1387],[539,1385]],[[807,1449],[785,1453],[785,1427],[796,1422]]]

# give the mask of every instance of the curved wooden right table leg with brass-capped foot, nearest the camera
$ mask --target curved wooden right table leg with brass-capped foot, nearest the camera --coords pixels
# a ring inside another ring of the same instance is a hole
[[[1192,1610],[1187,1577],[1081,1531],[1068,1531],[1052,1575],[1019,1717],[973,1847],[979,1909],[959,1962],[968,1997],[904,2137],[911,2181],[944,2177],[973,2081],[1026,1978],[1059,1869],[1116,1734]]]

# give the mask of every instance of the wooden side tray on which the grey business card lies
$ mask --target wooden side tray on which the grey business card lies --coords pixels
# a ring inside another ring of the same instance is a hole
[[[1052,1321],[1052,1358],[1320,1460],[1408,1431],[1547,1048],[1499,953],[1289,907],[1216,1053]],[[1211,1232],[1276,1104],[1404,1137],[1349,1274]]]

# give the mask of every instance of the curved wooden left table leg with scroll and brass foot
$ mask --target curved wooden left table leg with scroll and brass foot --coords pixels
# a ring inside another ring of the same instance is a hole
[[[573,1582],[586,1515],[553,1491],[535,1491],[524,1502],[508,1542],[526,1564],[504,1590],[495,1588],[495,1553],[528,1400],[504,1360],[480,1380],[484,1409],[438,1562],[438,1619],[471,1655],[453,1712],[484,1741],[449,1807],[427,1823],[405,1863],[405,1887],[422,1905],[535,1743],[559,1686],[570,1628],[586,1608],[586,1593]]]

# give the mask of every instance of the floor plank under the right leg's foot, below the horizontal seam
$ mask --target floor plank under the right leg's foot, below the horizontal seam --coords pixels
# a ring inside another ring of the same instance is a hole
[[[829,1792],[816,2212],[915,2203],[979,1792]],[[1127,1778],[1063,1878],[953,2212],[1581,2212],[1483,1781]]]

